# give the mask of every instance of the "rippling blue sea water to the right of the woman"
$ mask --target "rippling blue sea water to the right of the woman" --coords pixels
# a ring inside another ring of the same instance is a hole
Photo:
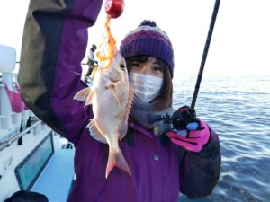
[[[196,78],[174,78],[174,107],[190,105]],[[220,180],[209,197],[181,202],[270,201],[270,75],[202,78],[195,106],[220,137]]]

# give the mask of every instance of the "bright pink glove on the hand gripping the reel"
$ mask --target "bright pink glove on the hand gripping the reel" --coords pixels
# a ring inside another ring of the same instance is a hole
[[[197,153],[202,150],[202,146],[205,145],[210,137],[209,127],[202,119],[198,119],[201,123],[202,130],[188,130],[187,136],[180,136],[175,132],[167,132],[167,136],[176,145],[184,147],[184,149]]]

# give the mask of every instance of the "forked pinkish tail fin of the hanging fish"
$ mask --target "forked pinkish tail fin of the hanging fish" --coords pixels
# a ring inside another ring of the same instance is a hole
[[[112,171],[114,167],[118,167],[122,171],[125,171],[129,175],[131,175],[130,166],[126,162],[120,149],[118,149],[116,152],[112,150],[109,151],[109,158],[108,158],[107,168],[106,168],[106,178],[108,178],[108,175],[110,174],[110,172]]]

